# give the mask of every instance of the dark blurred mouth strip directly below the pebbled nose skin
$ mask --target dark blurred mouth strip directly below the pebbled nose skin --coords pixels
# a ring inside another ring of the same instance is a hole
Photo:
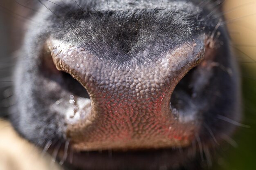
[[[187,148],[77,152],[66,143],[49,148],[49,153],[68,170],[74,167],[78,170],[177,169],[180,163],[196,155],[191,148],[192,145]]]

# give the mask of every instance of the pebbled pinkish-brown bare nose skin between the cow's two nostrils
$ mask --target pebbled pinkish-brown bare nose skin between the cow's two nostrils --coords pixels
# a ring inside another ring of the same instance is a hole
[[[170,106],[170,98],[180,79],[202,60],[203,42],[203,38],[198,38],[153,60],[130,65],[113,64],[86,49],[48,40],[56,68],[70,73],[90,94],[91,106],[79,108],[75,121],[67,126],[67,137],[74,148],[188,145],[198,130],[198,122],[180,121]]]

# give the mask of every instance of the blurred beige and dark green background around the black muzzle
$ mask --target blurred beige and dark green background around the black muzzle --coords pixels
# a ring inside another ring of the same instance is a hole
[[[11,54],[25,31],[32,0],[0,0],[0,115],[7,115],[11,98]],[[24,3],[25,2],[25,3]],[[212,170],[256,170],[256,0],[225,0],[224,12],[232,47],[237,54],[243,86],[244,127],[220,145]],[[33,7],[33,5],[31,6]],[[249,126],[249,128],[248,128]],[[0,118],[0,170],[59,170],[47,154],[21,139],[7,120]]]

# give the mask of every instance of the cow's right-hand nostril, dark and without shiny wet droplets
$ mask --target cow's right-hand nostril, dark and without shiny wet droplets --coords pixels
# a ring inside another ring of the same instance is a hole
[[[207,49],[204,60],[186,73],[175,86],[170,100],[170,108],[180,121],[193,121],[207,106],[211,91],[209,83],[214,68],[218,66],[214,60],[215,58]]]

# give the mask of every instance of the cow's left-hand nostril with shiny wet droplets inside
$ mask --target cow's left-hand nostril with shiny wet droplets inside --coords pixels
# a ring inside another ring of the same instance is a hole
[[[45,47],[41,57],[40,72],[49,79],[49,88],[58,93],[55,103],[51,106],[52,109],[63,115],[67,124],[75,124],[87,119],[91,113],[91,99],[88,91],[69,73],[56,68],[48,49],[51,50],[52,47]]]

